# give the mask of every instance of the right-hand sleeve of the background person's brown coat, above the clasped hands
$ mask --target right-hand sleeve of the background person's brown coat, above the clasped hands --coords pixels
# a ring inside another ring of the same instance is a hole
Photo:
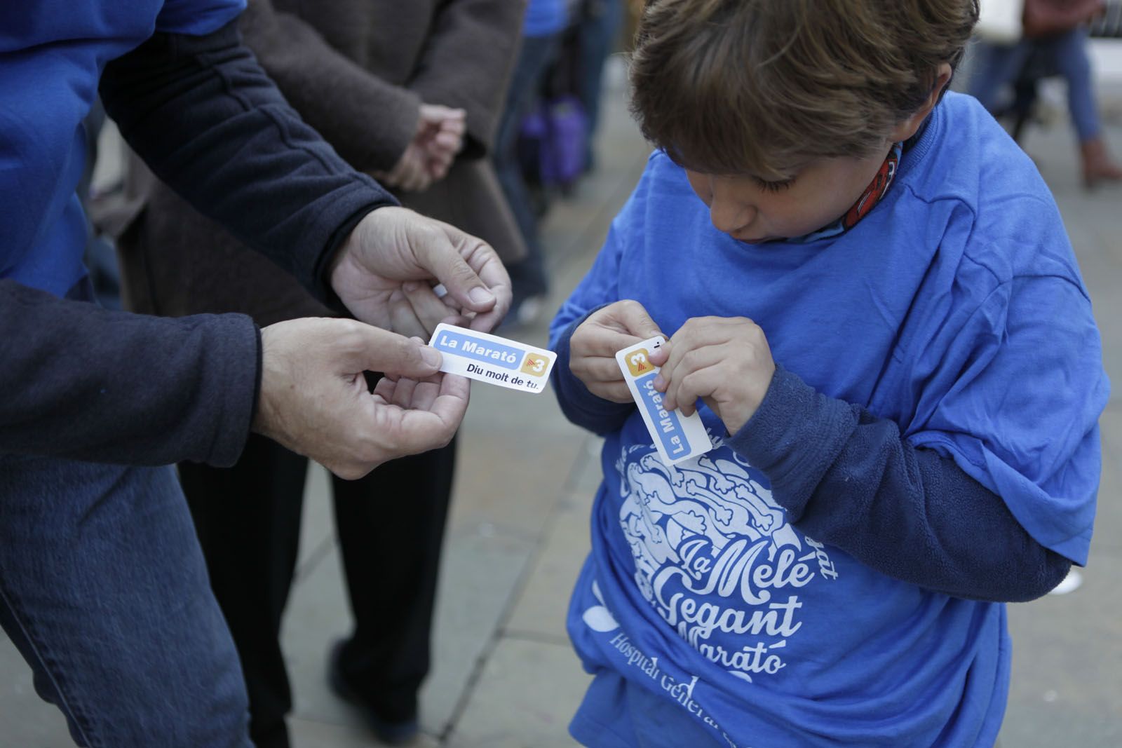
[[[487,154],[518,54],[525,0],[444,0],[410,89],[467,112],[462,156]]]

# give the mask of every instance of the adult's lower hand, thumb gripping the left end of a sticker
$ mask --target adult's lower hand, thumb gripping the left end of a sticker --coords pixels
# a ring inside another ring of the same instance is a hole
[[[269,325],[261,330],[254,431],[340,478],[361,478],[452,438],[469,382],[439,367],[439,351],[355,320]],[[364,371],[386,372],[373,394]]]

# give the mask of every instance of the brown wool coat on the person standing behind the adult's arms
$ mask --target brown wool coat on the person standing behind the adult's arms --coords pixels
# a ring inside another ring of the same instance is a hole
[[[486,158],[519,43],[524,0],[249,0],[246,44],[301,117],[362,172],[389,170],[421,102],[467,111],[448,176],[402,203],[525,255]],[[328,315],[295,280],[156,181],[136,157],[126,200],[99,220],[117,238],[138,312],[240,312],[267,325]]]

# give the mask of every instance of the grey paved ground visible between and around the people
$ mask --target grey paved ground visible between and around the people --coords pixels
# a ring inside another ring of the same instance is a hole
[[[1115,92],[1122,93],[1122,92]],[[1107,96],[1109,137],[1122,155],[1122,95]],[[646,147],[610,92],[599,167],[544,227],[550,310],[591,261],[634,184]],[[1066,119],[1026,141],[1056,193],[1094,298],[1106,366],[1122,382],[1122,187],[1084,192]],[[518,333],[542,343],[545,322]],[[1082,587],[1010,606],[1014,671],[1005,748],[1122,746],[1122,396],[1102,418],[1104,469],[1091,562]],[[434,663],[422,694],[420,746],[574,746],[565,724],[588,682],[564,634],[564,610],[588,548],[598,482],[597,440],[569,425],[551,395],[477,385],[461,432],[447,535]],[[324,472],[312,470],[298,576],[284,644],[295,691],[297,748],[371,746],[328,691],[324,655],[349,626]],[[57,711],[0,637],[0,748],[71,745]]]

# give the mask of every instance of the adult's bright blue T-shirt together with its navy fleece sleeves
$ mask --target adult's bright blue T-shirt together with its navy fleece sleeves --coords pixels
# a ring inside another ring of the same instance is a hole
[[[70,301],[90,297],[74,188],[99,82],[163,181],[328,303],[334,250],[394,204],[240,44],[242,4],[0,3],[0,453],[231,464],[249,433],[260,371],[249,317],[157,320]]]

